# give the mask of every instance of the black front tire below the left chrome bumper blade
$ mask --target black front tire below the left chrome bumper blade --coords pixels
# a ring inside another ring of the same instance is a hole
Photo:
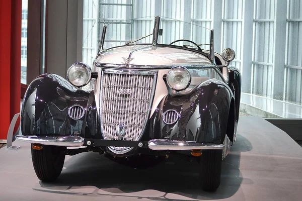
[[[63,169],[66,147],[42,145],[41,150],[33,149],[31,153],[33,166],[37,177],[41,181],[54,181],[61,174]]]

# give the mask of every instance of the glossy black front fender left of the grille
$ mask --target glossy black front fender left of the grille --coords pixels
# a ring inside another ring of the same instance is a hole
[[[30,83],[24,95],[21,132],[26,136],[96,135],[98,115],[94,98],[93,91],[77,89],[58,75],[40,75]],[[68,116],[68,108],[74,104],[85,110],[80,120]]]

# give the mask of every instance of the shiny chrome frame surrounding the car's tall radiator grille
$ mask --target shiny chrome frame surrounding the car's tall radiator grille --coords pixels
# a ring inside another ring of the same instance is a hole
[[[101,124],[101,132],[102,132],[102,136],[103,138],[106,140],[106,137],[104,135],[104,129],[103,129],[103,124],[102,124],[102,94],[103,94],[103,80],[104,80],[104,73],[114,73],[114,74],[145,74],[145,75],[153,75],[153,89],[151,91],[151,95],[150,95],[150,103],[148,106],[148,113],[146,115],[146,119],[142,128],[142,131],[140,133],[140,135],[137,137],[137,139],[135,139],[135,141],[139,140],[142,136],[142,134],[145,131],[145,127],[147,124],[147,120],[149,119],[150,116],[150,112],[152,111],[152,105],[153,105],[153,100],[154,100],[154,95],[155,95],[155,88],[156,88],[156,84],[157,84],[157,77],[158,77],[158,70],[131,70],[131,69],[104,69],[102,68],[102,79],[101,79],[101,84],[100,84],[100,124]],[[133,149],[133,147],[125,147],[124,150],[115,150],[114,147],[108,147],[110,151],[112,151],[115,154],[124,154],[129,152],[130,150]]]

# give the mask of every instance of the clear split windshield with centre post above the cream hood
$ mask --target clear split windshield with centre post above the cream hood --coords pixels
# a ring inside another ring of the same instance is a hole
[[[148,44],[177,45],[186,48],[210,48],[210,30],[202,27],[201,22],[184,22],[177,19],[160,17],[158,31],[155,32],[156,16],[134,18],[117,21],[106,19],[102,24],[105,27],[105,38],[101,49],[106,50],[115,46]],[[103,30],[104,34],[104,30]],[[155,34],[157,34],[155,36]],[[100,38],[102,38],[100,36]]]

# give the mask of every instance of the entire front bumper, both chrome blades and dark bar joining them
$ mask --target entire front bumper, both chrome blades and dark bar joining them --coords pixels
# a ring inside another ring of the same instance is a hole
[[[208,149],[224,149],[223,144],[213,143],[196,143],[175,140],[149,140],[149,141],[126,141],[126,140],[103,140],[103,139],[84,139],[75,136],[16,136],[16,140],[29,143],[38,143],[44,145],[64,146],[64,147],[137,147],[149,148],[155,151],[178,151],[178,150],[208,150]]]

